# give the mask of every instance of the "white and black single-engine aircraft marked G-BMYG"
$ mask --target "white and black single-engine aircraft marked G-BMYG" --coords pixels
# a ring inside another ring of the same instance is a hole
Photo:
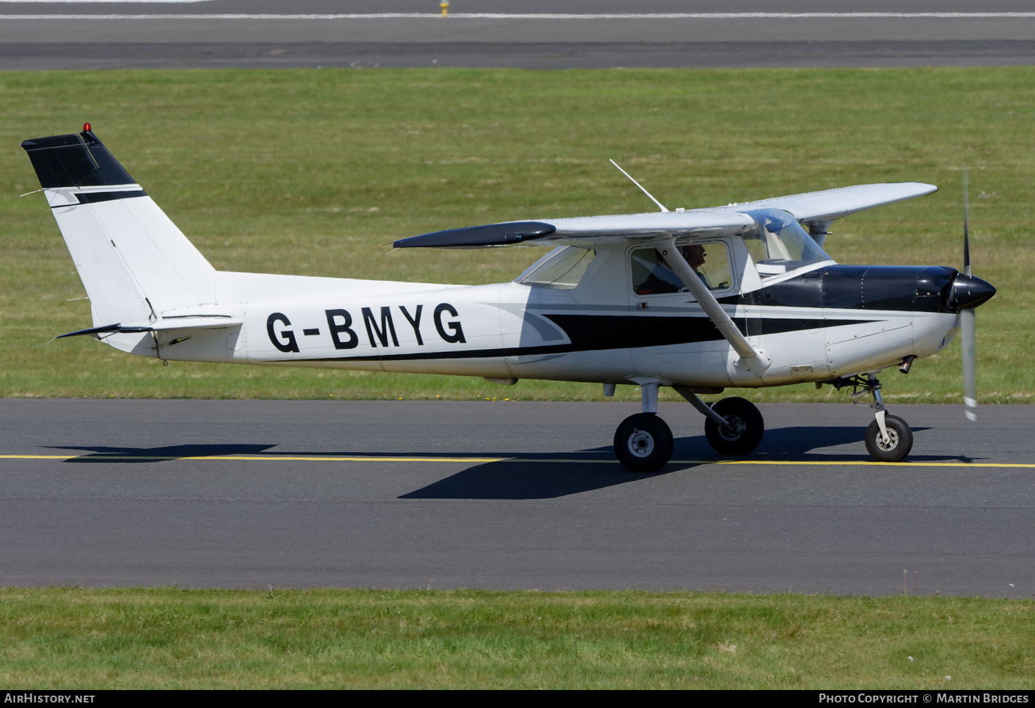
[[[166,361],[583,381],[603,384],[604,395],[634,384],[643,412],[619,424],[615,453],[646,472],[673,450],[656,415],[659,386],[705,416],[708,442],[726,455],[758,446],[762,415],[743,399],[707,405],[702,394],[848,386],[853,401],[873,396],[866,449],[900,461],[913,434],[885,412],[877,375],[888,366],[908,373],[962,328],[965,402],[974,416],[974,308],[996,290],[970,273],[966,216],[962,273],[838,265],[823,250],[835,219],[928,195],[937,189],[930,184],[862,184],[675,211],[644,189],[659,212],[508,222],[395,241],[398,248],[555,246],[512,283],[450,286],[216,271],[89,124],[22,147],[90,298],[93,326],[61,336],[88,334]]]

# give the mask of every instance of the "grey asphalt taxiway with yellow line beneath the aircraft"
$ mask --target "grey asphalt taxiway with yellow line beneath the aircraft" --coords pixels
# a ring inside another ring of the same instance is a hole
[[[762,406],[717,462],[664,404],[649,475],[611,451],[638,409],[0,401],[0,585],[1035,594],[1035,407],[892,405],[879,465],[862,406]]]

